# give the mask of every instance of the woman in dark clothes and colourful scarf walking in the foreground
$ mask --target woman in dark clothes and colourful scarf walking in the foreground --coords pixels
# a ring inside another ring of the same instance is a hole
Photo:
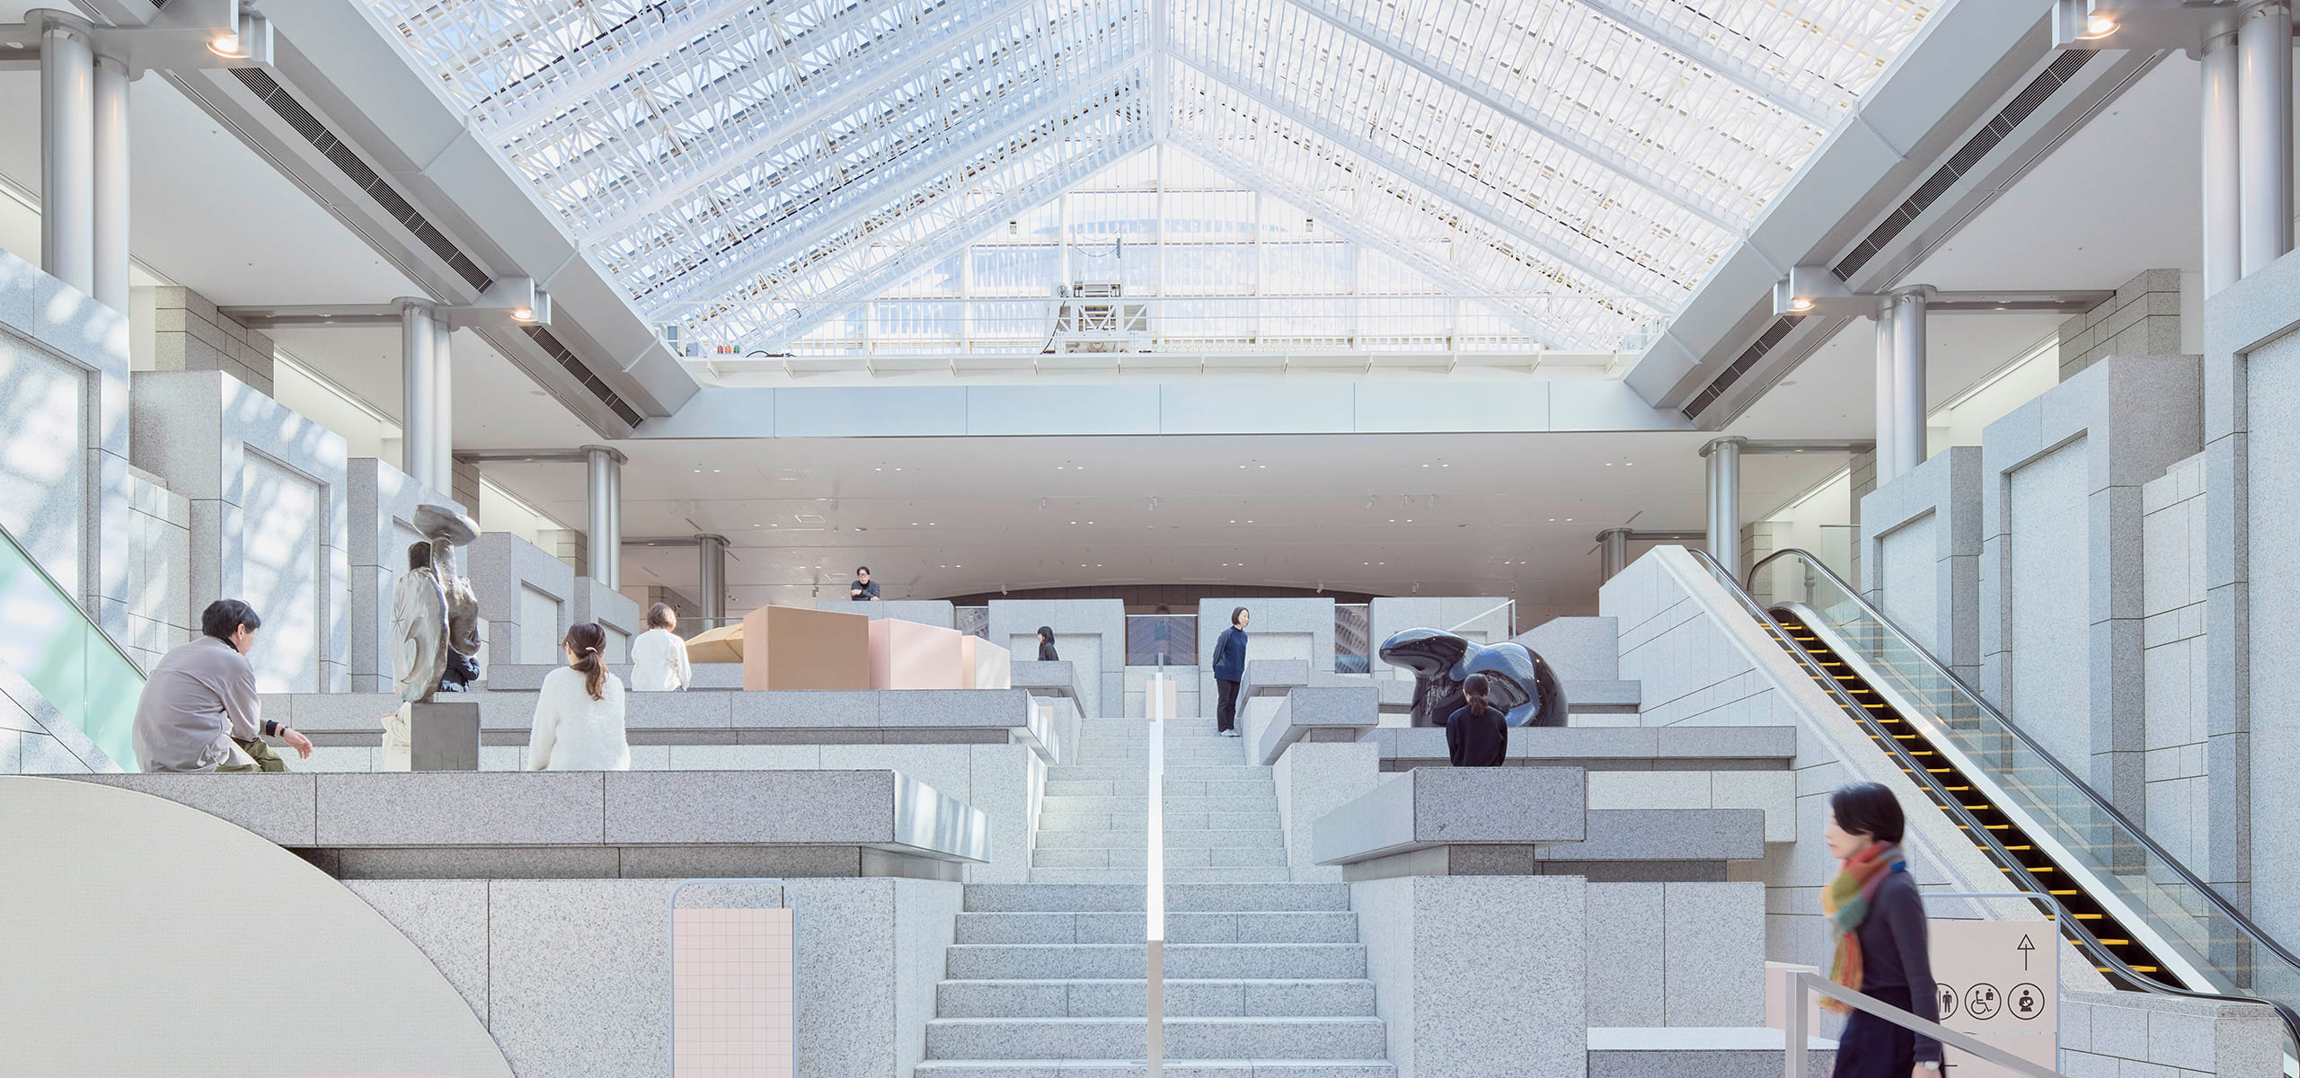
[[[1828,795],[1822,837],[1828,855],[1842,862],[1822,890],[1822,913],[1838,933],[1828,979],[1937,1023],[1941,1002],[1932,984],[1925,901],[1900,850],[1904,827],[1900,800],[1874,781]],[[1822,1007],[1851,1011],[1838,1037],[1835,1078],[1939,1078],[1941,1041],[1835,1000]]]

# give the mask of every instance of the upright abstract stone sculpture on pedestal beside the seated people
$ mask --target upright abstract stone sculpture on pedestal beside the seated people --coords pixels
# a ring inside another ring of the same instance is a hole
[[[478,655],[478,595],[455,568],[455,547],[478,540],[478,524],[448,506],[416,506],[423,542],[407,552],[407,575],[391,586],[391,676],[400,703],[430,703],[446,655]]]

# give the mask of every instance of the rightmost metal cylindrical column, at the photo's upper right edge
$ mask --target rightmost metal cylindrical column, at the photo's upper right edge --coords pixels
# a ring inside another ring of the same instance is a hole
[[[2242,271],[2293,248],[2293,9],[2266,5],[2236,30],[2238,170],[2245,205]]]

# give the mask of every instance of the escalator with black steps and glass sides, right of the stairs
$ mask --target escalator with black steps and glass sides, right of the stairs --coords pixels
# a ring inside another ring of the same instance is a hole
[[[2293,1069],[2300,958],[1817,559],[1778,552],[1741,586],[1693,554],[2109,984],[2268,1002]]]

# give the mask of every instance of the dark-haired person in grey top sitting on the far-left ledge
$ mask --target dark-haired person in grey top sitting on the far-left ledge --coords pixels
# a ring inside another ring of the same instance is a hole
[[[136,763],[143,770],[288,770],[264,738],[310,759],[310,738],[262,717],[248,648],[262,627],[255,607],[216,600],[200,611],[200,639],[152,667],[136,701]]]

